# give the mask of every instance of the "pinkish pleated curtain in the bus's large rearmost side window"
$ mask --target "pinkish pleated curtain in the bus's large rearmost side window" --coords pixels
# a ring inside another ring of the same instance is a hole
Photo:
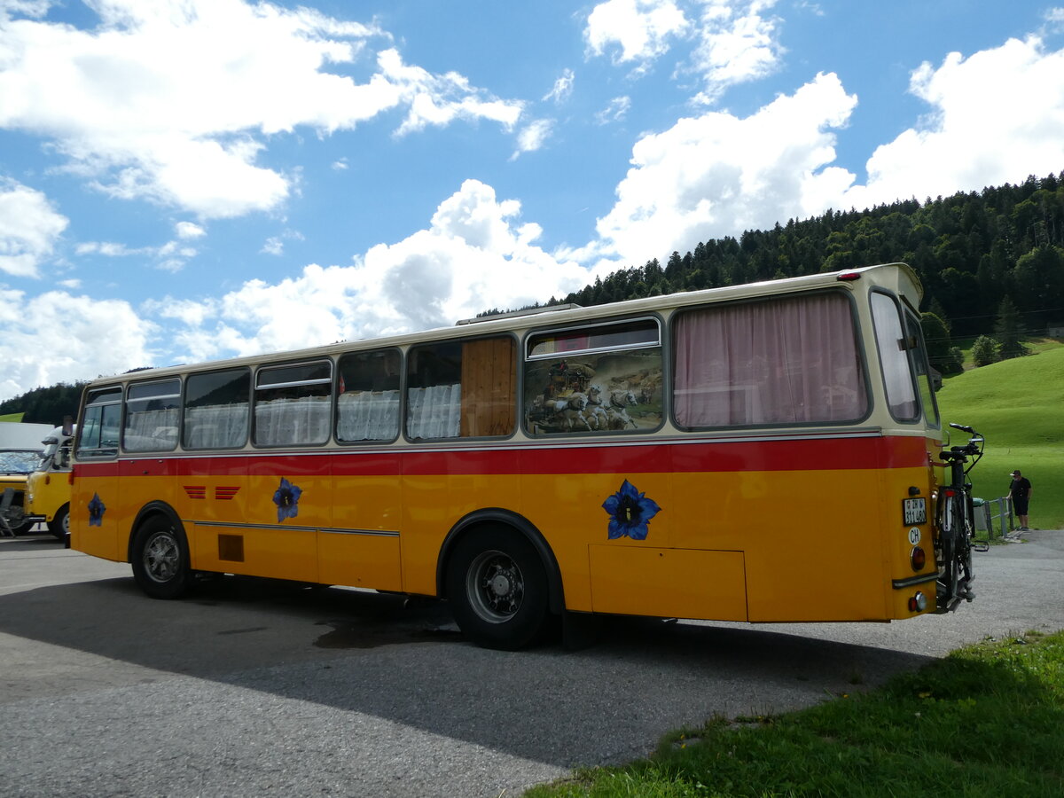
[[[675,409],[684,427],[861,418],[865,380],[838,294],[706,307],[676,322]]]

